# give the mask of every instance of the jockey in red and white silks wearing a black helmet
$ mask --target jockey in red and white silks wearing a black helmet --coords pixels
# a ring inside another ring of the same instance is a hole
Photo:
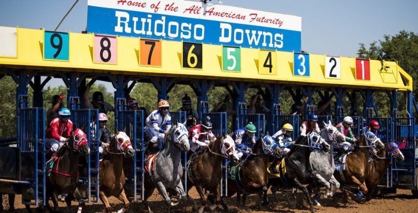
[[[191,152],[195,152],[200,147],[209,147],[209,142],[216,140],[215,135],[210,131],[211,129],[212,123],[208,116],[202,124],[196,125],[189,130]]]

